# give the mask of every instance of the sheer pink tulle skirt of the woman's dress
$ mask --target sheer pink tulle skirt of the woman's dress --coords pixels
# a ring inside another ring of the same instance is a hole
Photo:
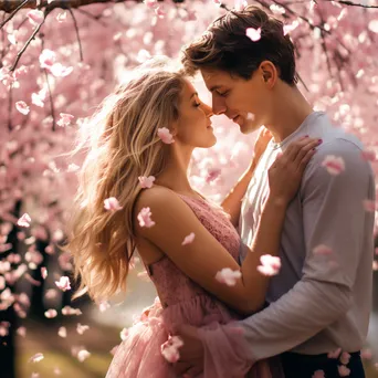
[[[155,301],[128,329],[106,378],[176,378],[160,348],[178,324],[204,326],[199,328],[201,337],[206,335],[203,329],[217,330],[217,335],[211,333],[216,336],[212,340],[206,340],[211,353],[206,349],[203,372],[196,378],[272,378],[267,363],[255,364],[251,369],[252,364],[243,358],[248,346],[234,319],[221,303],[214,305],[213,300],[204,295],[167,308]],[[220,324],[229,326],[223,329]]]

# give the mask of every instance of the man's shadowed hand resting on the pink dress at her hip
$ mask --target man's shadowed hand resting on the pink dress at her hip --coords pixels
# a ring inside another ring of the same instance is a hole
[[[180,359],[174,365],[175,372],[181,377],[196,377],[203,370],[203,345],[196,327],[180,325],[175,329],[183,345],[179,348]]]

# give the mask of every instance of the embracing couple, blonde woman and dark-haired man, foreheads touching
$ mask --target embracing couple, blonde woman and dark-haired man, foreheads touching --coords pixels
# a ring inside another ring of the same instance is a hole
[[[159,297],[106,377],[365,377],[375,181],[361,143],[313,111],[282,22],[256,7],[216,20],[182,63],[147,64],[105,101],[81,171],[65,246],[81,288],[123,288],[137,250]],[[188,179],[214,114],[266,127],[221,206]]]

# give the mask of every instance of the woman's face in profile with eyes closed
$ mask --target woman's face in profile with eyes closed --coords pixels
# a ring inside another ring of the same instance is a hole
[[[192,84],[185,80],[175,140],[191,147],[212,147],[217,143],[211,127],[212,115],[211,107],[199,99]]]

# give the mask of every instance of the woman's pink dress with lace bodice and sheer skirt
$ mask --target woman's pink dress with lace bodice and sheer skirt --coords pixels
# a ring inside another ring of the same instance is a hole
[[[180,197],[207,230],[238,261],[240,237],[225,214],[206,200]],[[217,327],[219,324],[240,318],[183,274],[167,256],[147,266],[147,272],[159,300],[156,298],[155,304],[145,309],[139,321],[128,329],[128,336],[118,346],[106,378],[177,378],[160,351],[161,345],[174,334],[175,324]],[[240,336],[238,338],[241,339]],[[235,346],[221,346],[223,347]],[[206,360],[203,372],[198,377],[246,377],[251,365],[242,359],[237,364],[240,366],[232,367],[232,371],[238,370],[238,374],[231,376],[228,371],[218,371],[217,361],[213,359],[208,363]],[[265,363],[254,365],[248,377],[270,378]]]

